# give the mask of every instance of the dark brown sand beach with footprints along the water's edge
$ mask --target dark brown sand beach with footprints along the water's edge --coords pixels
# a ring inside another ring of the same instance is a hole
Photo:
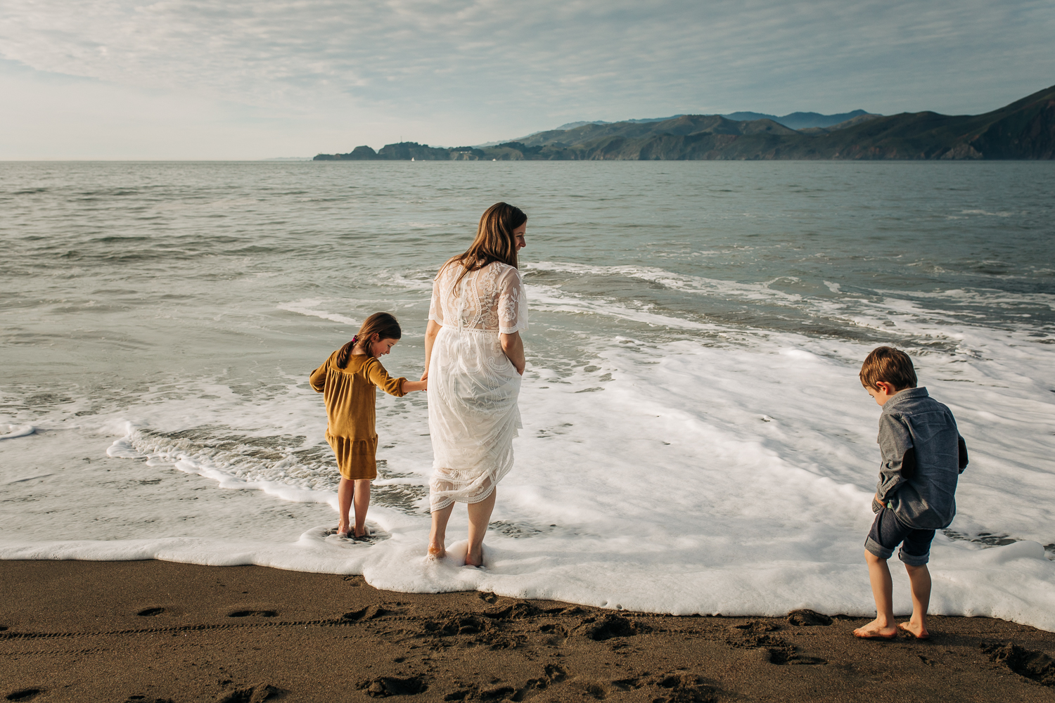
[[[158,561],[0,562],[11,701],[1053,701],[1055,633],[934,618],[671,617],[362,577]],[[864,585],[862,586],[864,587]]]

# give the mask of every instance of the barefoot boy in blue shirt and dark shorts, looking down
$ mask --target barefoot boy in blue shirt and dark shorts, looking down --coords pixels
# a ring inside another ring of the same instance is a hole
[[[956,515],[953,495],[967,465],[967,449],[948,408],[916,387],[916,370],[905,352],[874,349],[861,366],[861,385],[883,408],[878,438],[882,464],[871,502],[876,521],[864,543],[876,619],[853,634],[889,640],[901,629],[926,640],[931,541]],[[900,625],[894,622],[894,584],[886,565],[899,544],[913,595],[912,618]]]

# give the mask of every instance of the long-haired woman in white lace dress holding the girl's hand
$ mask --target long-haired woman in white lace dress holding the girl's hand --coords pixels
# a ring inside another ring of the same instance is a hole
[[[483,213],[473,246],[449,259],[433,282],[425,331],[428,431],[433,437],[428,554],[446,555],[455,503],[468,509],[465,563],[483,564],[483,535],[498,482],[513,468],[524,372],[520,332],[528,300],[517,270],[528,215],[497,202]]]

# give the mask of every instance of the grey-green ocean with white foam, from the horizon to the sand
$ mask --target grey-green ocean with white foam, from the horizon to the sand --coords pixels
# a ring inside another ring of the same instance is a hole
[[[932,612],[1055,630],[1053,194],[1047,162],[0,163],[0,559],[874,613],[858,370],[894,345],[971,452]],[[327,536],[308,373],[384,310],[419,377],[430,279],[497,200],[531,327],[487,568],[424,559],[424,393],[378,397],[379,539]]]

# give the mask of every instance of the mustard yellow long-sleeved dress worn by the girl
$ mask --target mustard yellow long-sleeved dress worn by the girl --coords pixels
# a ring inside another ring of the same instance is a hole
[[[373,429],[375,404],[380,387],[397,397],[403,392],[403,376],[392,378],[381,362],[366,354],[351,354],[340,368],[330,354],[311,372],[311,388],[326,401],[326,442],[333,449],[341,475],[349,481],[378,477],[378,433]]]

